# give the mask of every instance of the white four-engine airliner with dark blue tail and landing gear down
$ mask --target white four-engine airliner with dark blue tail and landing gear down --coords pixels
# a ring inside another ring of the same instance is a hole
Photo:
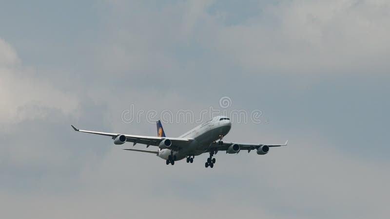
[[[139,151],[156,154],[158,157],[166,160],[166,164],[175,164],[175,161],[187,158],[187,163],[193,163],[195,156],[203,153],[209,153],[205,167],[214,167],[215,158],[213,157],[218,151],[226,151],[227,154],[236,154],[241,150],[256,150],[259,155],[267,154],[270,147],[287,146],[288,141],[283,145],[269,145],[269,144],[242,144],[233,142],[223,142],[222,139],[227,135],[232,128],[230,119],[226,116],[215,116],[210,121],[201,124],[177,138],[167,137],[162,128],[161,121],[156,122],[157,137],[128,135],[119,133],[107,133],[98,131],[81,130],[73,125],[75,131],[86,132],[98,135],[110,136],[114,140],[115,145],[122,145],[125,142],[132,142],[133,146],[136,144],[144,144],[149,146],[157,146],[157,151],[140,150],[132,148],[123,148],[124,150]]]

